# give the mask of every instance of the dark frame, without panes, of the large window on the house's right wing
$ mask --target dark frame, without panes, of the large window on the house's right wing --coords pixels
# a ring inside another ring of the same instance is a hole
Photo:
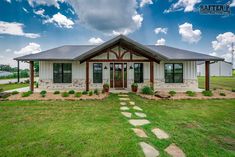
[[[166,72],[166,65],[167,65],[167,64],[171,64],[172,67],[173,67],[171,73],[167,73],[167,72]],[[175,72],[175,65],[176,65],[176,64],[182,66],[182,73]],[[183,64],[183,63],[165,63],[165,64],[164,64],[164,73],[165,73],[165,83],[184,83],[184,64]],[[166,79],[167,74],[171,74],[171,75],[172,75],[172,82],[171,82],[171,81],[167,81],[167,79]],[[181,74],[181,75],[179,75],[179,74]],[[177,82],[177,81],[176,81],[175,75],[181,76],[181,81],[180,81],[180,82]]]

